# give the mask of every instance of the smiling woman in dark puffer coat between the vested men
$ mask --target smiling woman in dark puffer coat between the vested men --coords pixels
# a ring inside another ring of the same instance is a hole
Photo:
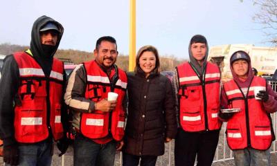
[[[134,72],[128,78],[128,118],[123,166],[156,165],[164,143],[177,133],[175,99],[168,77],[159,73],[159,54],[143,46],[136,55]]]

